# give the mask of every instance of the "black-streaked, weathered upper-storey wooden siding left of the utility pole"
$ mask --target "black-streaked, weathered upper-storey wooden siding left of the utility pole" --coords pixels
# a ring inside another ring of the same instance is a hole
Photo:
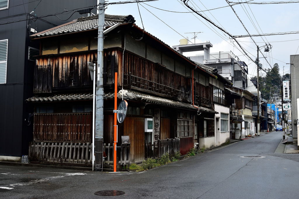
[[[92,86],[87,62],[96,62],[97,53],[61,55],[36,59],[34,93],[53,88]]]

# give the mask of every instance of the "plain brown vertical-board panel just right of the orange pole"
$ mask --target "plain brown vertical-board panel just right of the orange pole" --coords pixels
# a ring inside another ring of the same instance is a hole
[[[145,157],[144,118],[126,117],[123,123],[123,135],[130,136],[131,162],[141,162]]]

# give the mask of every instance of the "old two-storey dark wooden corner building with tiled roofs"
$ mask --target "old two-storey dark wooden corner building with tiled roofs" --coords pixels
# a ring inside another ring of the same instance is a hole
[[[97,16],[83,17],[31,36],[40,41],[35,96],[27,99],[34,106],[32,161],[91,163],[93,96],[88,62],[97,61],[97,21]],[[179,146],[176,150],[186,154],[198,144],[205,146],[207,138],[215,140],[213,87],[224,90],[228,82],[134,22],[130,15],[105,15],[106,30],[112,26],[113,30],[106,31],[104,39],[103,143],[106,147],[113,143],[115,84],[118,102],[128,102],[127,116],[118,123],[117,146],[120,136],[129,136],[131,162],[152,157],[154,143],[160,147],[157,144],[173,139],[175,144],[161,147]],[[117,82],[115,72],[121,74]],[[155,121],[153,132],[145,132],[147,118]]]

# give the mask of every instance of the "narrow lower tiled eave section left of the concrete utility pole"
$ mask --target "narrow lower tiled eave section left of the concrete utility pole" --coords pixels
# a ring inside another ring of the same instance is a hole
[[[54,95],[49,97],[32,97],[28,98],[25,101],[29,102],[42,102],[42,101],[72,101],[72,100],[90,100],[93,98],[93,95],[90,93],[86,94],[65,94],[65,95]]]

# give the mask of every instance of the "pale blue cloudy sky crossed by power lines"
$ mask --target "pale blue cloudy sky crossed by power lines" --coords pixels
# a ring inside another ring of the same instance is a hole
[[[245,0],[236,0],[234,2],[242,1],[245,2]],[[119,0],[111,0],[107,3],[111,2],[119,2]],[[251,2],[271,1],[253,0]],[[225,0],[189,0],[188,5],[200,11],[228,6],[228,3]],[[290,32],[298,31],[299,29],[299,3],[237,4],[233,8],[251,35]],[[189,13],[174,13],[164,10]],[[194,43],[194,39],[191,39],[193,38],[193,34],[189,32],[202,32],[197,34],[196,43],[209,41],[213,45],[210,49],[211,53],[232,51],[241,61],[245,61],[248,65],[248,74],[250,76],[256,75],[256,64],[244,55],[244,52],[240,50],[235,41],[233,42],[228,35],[214,27],[208,21],[205,21],[201,16],[190,12],[191,10],[183,5],[181,0],[141,2],[139,3],[139,10],[137,3],[112,4],[108,5],[105,10],[106,14],[111,15],[132,15],[139,27],[144,26],[145,31],[161,39],[171,47],[179,45],[179,40],[182,38],[189,38]],[[215,24],[223,27],[231,35],[248,35],[231,7],[223,7],[201,13]],[[275,63],[280,66],[281,75],[283,72],[284,74],[289,73],[289,64],[286,63],[291,62],[290,55],[299,54],[299,34],[258,36],[253,37],[253,39],[260,47],[266,43],[270,43],[272,45],[270,52],[264,52],[264,48],[261,48],[263,55],[271,66]],[[238,38],[238,41],[246,50],[246,53],[255,60],[257,57],[257,46],[251,38]],[[192,56],[199,53],[202,52],[184,53],[184,55]],[[260,63],[263,64],[263,68],[270,68],[265,58],[261,58],[263,55],[259,53]],[[263,76],[266,75],[263,71],[260,74]]]

